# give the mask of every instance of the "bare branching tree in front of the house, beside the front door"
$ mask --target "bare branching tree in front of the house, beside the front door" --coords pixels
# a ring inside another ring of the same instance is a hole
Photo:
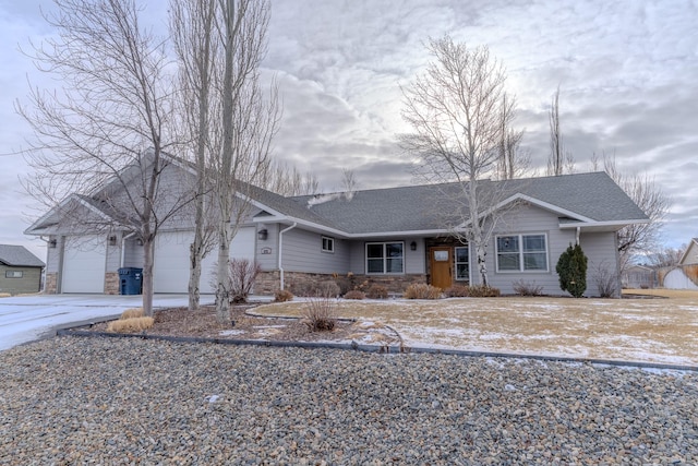
[[[486,246],[503,193],[482,179],[496,170],[514,99],[504,98],[506,75],[488,47],[468,48],[446,36],[430,39],[428,49],[433,61],[402,89],[402,119],[413,133],[400,135],[400,144],[418,159],[416,166],[426,181],[440,186],[455,181],[455,195],[453,191],[444,195],[464,202],[465,208],[452,229],[474,246],[481,283],[488,285]]]

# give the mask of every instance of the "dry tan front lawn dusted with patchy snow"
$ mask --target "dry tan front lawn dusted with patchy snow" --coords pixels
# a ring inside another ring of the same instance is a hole
[[[285,302],[255,311],[298,316],[304,307]],[[408,347],[698,365],[698,295],[337,300],[336,309],[338,316],[392,326]]]

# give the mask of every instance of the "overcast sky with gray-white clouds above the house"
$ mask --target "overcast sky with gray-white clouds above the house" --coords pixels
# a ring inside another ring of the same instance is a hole
[[[165,29],[166,1],[145,1]],[[41,0],[0,0],[0,243],[27,246],[45,260],[40,241],[22,231],[38,215],[17,180],[26,124],[13,101],[26,100],[27,75],[46,81],[19,52],[51,34]],[[341,168],[360,189],[411,182],[395,135],[399,86],[430,57],[423,43],[449,34],[488,45],[506,67],[516,94],[515,124],[544,174],[547,112],[559,86],[564,142],[577,171],[593,153],[615,154],[628,174],[647,174],[673,199],[666,246],[698,237],[698,0],[274,0],[264,62],[284,100],[278,158],[313,171],[338,189]]]

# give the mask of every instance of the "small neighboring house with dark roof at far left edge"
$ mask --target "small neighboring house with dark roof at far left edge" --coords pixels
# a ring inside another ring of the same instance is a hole
[[[40,291],[44,265],[23,246],[0,244],[0,292]]]

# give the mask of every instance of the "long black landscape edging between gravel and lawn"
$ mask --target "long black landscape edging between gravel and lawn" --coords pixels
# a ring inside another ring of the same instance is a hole
[[[641,361],[623,361],[615,359],[593,359],[593,358],[575,358],[567,356],[545,356],[545,355],[526,355],[516,353],[494,353],[494,351],[469,351],[462,349],[438,349],[426,347],[406,347],[395,345],[361,345],[358,343],[329,343],[329,342],[279,342],[272,339],[234,339],[234,338],[207,338],[196,336],[171,336],[171,335],[151,335],[151,334],[131,334],[131,333],[107,333],[107,332],[89,332],[74,331],[70,328],[61,328],[56,332],[58,336],[83,336],[83,337],[107,337],[107,338],[141,338],[165,340],[172,343],[213,343],[218,345],[237,345],[237,346],[267,346],[276,348],[310,348],[310,349],[344,349],[363,353],[378,354],[424,354],[424,355],[446,355],[460,357],[485,357],[485,358],[507,358],[507,359],[532,359],[538,361],[551,362],[578,362],[603,365],[613,367],[628,367],[640,369],[666,369],[676,371],[698,372],[698,366],[685,365],[667,365],[661,362],[641,362]]]

